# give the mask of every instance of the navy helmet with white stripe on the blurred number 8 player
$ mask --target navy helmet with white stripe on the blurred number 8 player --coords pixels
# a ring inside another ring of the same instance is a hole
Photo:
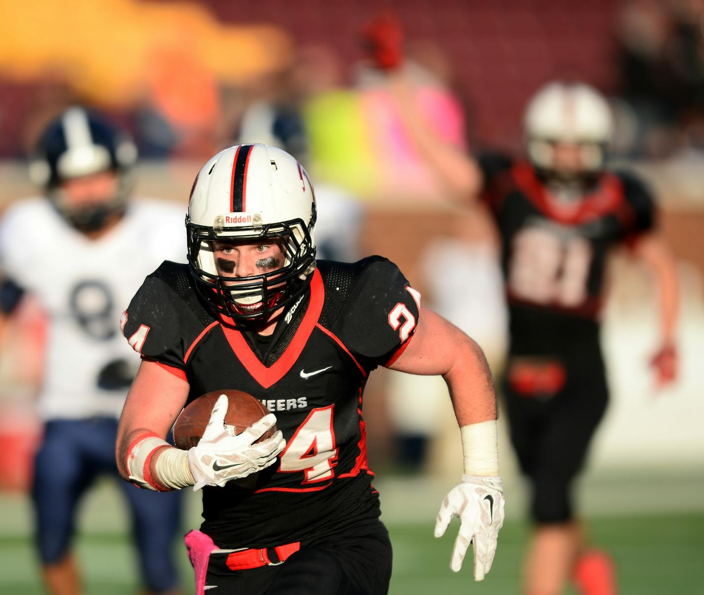
[[[125,131],[101,115],[72,107],[44,130],[30,160],[30,178],[70,224],[91,231],[100,229],[113,213],[124,210],[136,161],[137,148]],[[61,192],[63,182],[108,171],[118,177],[113,196],[80,208],[66,202]]]

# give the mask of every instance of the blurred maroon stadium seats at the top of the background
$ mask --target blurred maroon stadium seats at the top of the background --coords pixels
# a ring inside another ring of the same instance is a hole
[[[160,0],[141,4],[170,3]],[[195,4],[210,8],[222,23],[279,25],[298,44],[315,42],[334,48],[346,64],[360,59],[358,32],[379,10],[372,0],[354,4],[203,0]],[[546,79],[572,76],[605,91],[615,88],[617,73],[612,56],[618,6],[610,0],[384,3],[384,7],[396,9],[409,39],[432,39],[452,57],[458,91],[471,106],[472,136],[506,148],[517,148],[524,102]],[[67,34],[72,24],[67,20]],[[223,59],[237,60],[235,56]],[[37,96],[46,91],[46,81],[3,82],[0,69],[0,91],[0,109],[13,114],[10,119],[4,118],[0,156],[17,157],[23,147],[23,121]]]

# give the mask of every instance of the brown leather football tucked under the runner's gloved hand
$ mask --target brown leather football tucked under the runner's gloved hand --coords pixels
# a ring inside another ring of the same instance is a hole
[[[241,390],[207,392],[191,401],[176,419],[173,433],[174,444],[177,448],[188,450],[198,444],[210,420],[213,406],[220,395],[227,395],[225,426],[232,426],[235,434],[244,432],[254,422],[269,413],[269,410],[258,399]],[[268,430],[259,440],[271,437],[275,432],[276,426]]]

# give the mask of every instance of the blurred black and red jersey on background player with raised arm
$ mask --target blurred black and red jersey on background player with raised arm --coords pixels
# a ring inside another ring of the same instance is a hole
[[[560,206],[528,162],[484,155],[479,164],[501,233],[512,352],[596,345],[606,258],[653,228],[650,192],[632,174],[605,172],[591,193]]]

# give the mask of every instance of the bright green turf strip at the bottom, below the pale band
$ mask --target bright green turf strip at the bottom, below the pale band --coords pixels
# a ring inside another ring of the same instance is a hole
[[[524,523],[505,523],[494,568],[481,584],[473,584],[469,569],[458,575],[449,570],[453,537],[434,539],[432,529],[425,523],[389,523],[394,542],[391,594],[518,594],[520,557],[527,535]],[[704,513],[597,518],[592,523],[592,536],[596,544],[614,554],[622,594],[704,592]],[[79,543],[87,594],[137,592],[132,553],[123,535],[91,532],[82,535]],[[190,588],[190,568],[184,554],[180,560]],[[22,535],[0,537],[0,593],[42,592],[29,539]]]

